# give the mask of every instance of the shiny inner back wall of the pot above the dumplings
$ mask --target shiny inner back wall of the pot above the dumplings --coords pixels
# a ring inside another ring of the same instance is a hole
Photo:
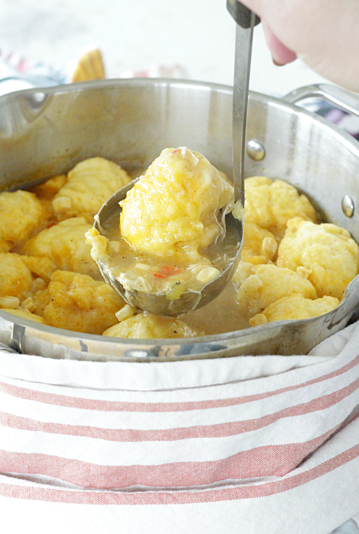
[[[288,180],[359,241],[359,214],[348,219],[341,209],[345,194],[359,200],[359,153],[344,133],[298,107],[251,93],[247,138],[260,139],[266,157],[255,162],[247,156],[246,175]],[[127,169],[146,167],[163,148],[182,145],[232,175],[230,88],[123,80],[0,99],[1,190],[67,172],[96,155]]]

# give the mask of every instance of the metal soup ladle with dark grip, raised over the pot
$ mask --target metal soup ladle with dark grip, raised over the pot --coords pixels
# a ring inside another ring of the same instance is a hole
[[[248,106],[249,73],[252,52],[253,27],[259,22],[258,17],[251,13],[246,7],[234,0],[227,0],[227,8],[237,22],[236,27],[236,54],[234,71],[233,90],[233,176],[234,176],[234,198],[241,201],[244,207],[244,150],[245,150],[245,127]],[[126,194],[139,178],[134,179],[130,184],[125,185],[114,193],[101,207],[93,227],[102,234],[106,234],[110,228],[119,227],[119,217],[122,208],[118,202],[126,198]],[[178,316],[188,313],[208,304],[222,292],[232,279],[233,274],[240,261],[240,253],[243,244],[243,222],[238,221],[232,213],[226,215],[226,235],[221,241],[226,247],[228,264],[219,276],[206,284],[201,293],[190,290],[182,293],[178,299],[170,300],[166,294],[146,293],[132,289],[126,290],[121,282],[111,276],[111,269],[101,260],[98,266],[103,278],[108,284],[135,309],[147,310],[158,315]],[[232,231],[230,231],[232,230]],[[238,239],[234,245],[229,240],[233,231]],[[229,247],[232,252],[228,252]]]

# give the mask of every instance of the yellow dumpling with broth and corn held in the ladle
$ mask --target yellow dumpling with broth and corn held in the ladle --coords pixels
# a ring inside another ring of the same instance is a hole
[[[222,238],[233,186],[199,152],[166,148],[119,205],[119,229],[86,236],[93,259],[107,262],[126,290],[178,299],[200,292],[228,265],[235,247],[228,244],[226,255]]]

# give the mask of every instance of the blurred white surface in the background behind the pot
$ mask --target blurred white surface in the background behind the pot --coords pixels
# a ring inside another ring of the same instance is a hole
[[[232,85],[235,23],[225,0],[0,0],[0,48],[67,66],[98,45],[107,75],[179,64],[188,78]],[[254,30],[250,88],[282,96],[324,78],[301,61],[276,67]]]

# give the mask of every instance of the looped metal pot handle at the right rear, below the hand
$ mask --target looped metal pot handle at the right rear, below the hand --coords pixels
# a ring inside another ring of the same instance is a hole
[[[285,95],[283,100],[290,104],[296,104],[305,98],[319,97],[330,104],[359,117],[359,95],[338,85],[329,83],[317,83],[295,89]]]

